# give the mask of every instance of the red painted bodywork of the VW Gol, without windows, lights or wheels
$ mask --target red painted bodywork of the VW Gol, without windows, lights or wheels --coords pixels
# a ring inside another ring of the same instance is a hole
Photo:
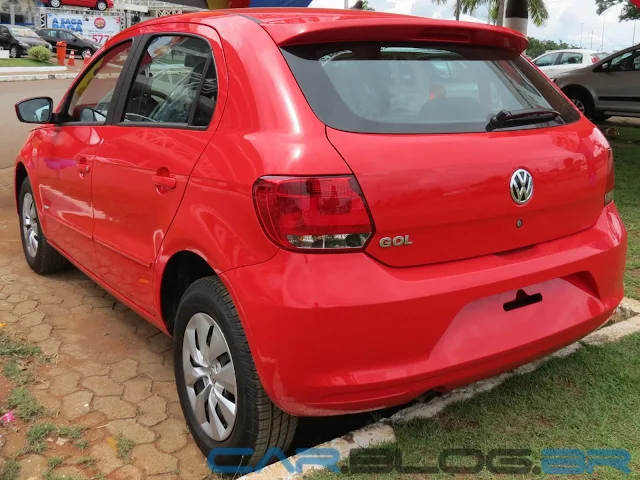
[[[604,202],[609,146],[586,118],[492,133],[339,131],[311,110],[276,46],[384,39],[520,52],[515,32],[256,9],[144,22],[103,51],[154,32],[209,40],[219,95],[207,129],[47,125],[17,162],[49,241],[166,333],[168,261],[184,251],[204,259],[235,302],[265,390],[288,413],[377,409],[485,378],[581,338],[620,302],[626,231]],[[535,180],[525,205],[509,196],[517,168]],[[372,220],[365,250],[290,251],[263,229],[261,177],[351,175]],[[411,244],[380,246],[396,236]],[[542,301],[505,311],[519,290]]]

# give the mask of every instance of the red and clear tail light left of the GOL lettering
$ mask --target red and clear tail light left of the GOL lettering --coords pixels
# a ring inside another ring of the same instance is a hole
[[[353,176],[263,177],[253,198],[267,236],[288,250],[353,251],[373,233]]]

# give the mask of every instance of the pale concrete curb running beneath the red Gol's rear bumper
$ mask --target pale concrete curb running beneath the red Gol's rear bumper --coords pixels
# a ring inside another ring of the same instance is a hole
[[[633,333],[639,333],[640,302],[630,298],[624,298],[620,307],[635,315],[627,320],[596,330],[584,337],[582,340],[572,343],[571,345],[568,345],[547,357],[516,368],[511,372],[506,372],[496,377],[454,390],[442,397],[432,400],[429,403],[412,405],[399,411],[395,415],[392,415],[390,419],[382,419],[360,430],[348,433],[340,438],[335,438],[314,448],[335,448],[340,452],[340,461],[343,461],[349,458],[349,453],[354,448],[365,448],[380,445],[382,443],[396,443],[396,436],[392,427],[393,424],[405,424],[415,419],[434,417],[449,405],[468,400],[480,393],[493,390],[498,385],[504,383],[505,380],[515,375],[531,373],[553,358],[568,357],[583,348],[584,344],[602,345],[604,343],[620,340],[621,338]],[[299,455],[294,455],[289,457],[288,460],[295,466],[298,458]],[[307,458],[307,456],[305,456],[305,458]],[[324,467],[320,465],[306,465],[303,473],[290,473],[282,462],[276,462],[262,470],[244,475],[238,480],[294,480],[302,478],[304,473],[308,473],[310,470],[315,469],[321,470],[324,469]]]

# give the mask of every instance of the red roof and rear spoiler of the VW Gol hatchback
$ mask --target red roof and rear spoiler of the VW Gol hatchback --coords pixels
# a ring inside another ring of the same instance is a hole
[[[485,45],[522,53],[528,45],[526,37],[515,30],[482,23],[365,10],[316,8],[248,8],[190,12],[147,20],[112,37],[110,42],[119,41],[123,36],[139,35],[142,29],[153,25],[189,22],[213,26],[213,23],[221,18],[230,16],[250,20],[243,28],[262,27],[276,44],[281,46],[375,39],[382,42],[432,41]]]

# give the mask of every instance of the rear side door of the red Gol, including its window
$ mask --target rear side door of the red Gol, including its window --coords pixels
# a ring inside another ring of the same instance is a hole
[[[216,65],[223,63],[213,29],[166,28],[144,37],[119,119],[101,136],[93,174],[97,273],[152,315],[155,259],[213,135]]]

